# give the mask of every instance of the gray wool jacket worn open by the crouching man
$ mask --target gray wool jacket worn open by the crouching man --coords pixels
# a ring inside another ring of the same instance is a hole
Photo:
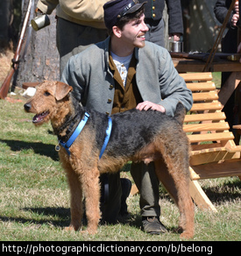
[[[74,88],[79,102],[103,113],[111,113],[115,90],[109,68],[109,44],[110,37],[71,57],[61,78]],[[146,41],[145,47],[135,48],[135,57],[136,80],[143,101],[162,105],[169,116],[174,116],[178,102],[186,110],[191,109],[192,93],[165,48]]]

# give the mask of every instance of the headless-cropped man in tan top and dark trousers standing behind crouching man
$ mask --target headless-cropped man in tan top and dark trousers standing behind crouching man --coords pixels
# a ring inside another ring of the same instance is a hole
[[[60,53],[60,77],[67,60],[91,44],[106,39],[103,4],[108,0],[39,0],[37,14],[51,14],[56,8],[57,47]]]

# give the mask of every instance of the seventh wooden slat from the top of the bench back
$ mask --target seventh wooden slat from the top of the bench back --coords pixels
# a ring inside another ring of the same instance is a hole
[[[230,140],[234,139],[232,132],[216,132],[206,134],[190,134],[188,135],[190,143],[216,141],[216,140]]]

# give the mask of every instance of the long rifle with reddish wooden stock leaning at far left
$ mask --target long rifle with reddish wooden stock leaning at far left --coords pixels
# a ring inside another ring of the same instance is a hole
[[[4,99],[9,92],[10,89],[10,83],[11,83],[11,78],[14,75],[15,71],[18,69],[18,64],[19,64],[19,55],[23,46],[23,41],[25,38],[25,31],[26,31],[26,27],[28,24],[28,20],[30,18],[30,11],[31,11],[31,6],[32,6],[32,0],[29,0],[28,3],[28,7],[27,7],[27,11],[25,14],[25,19],[24,19],[24,24],[20,33],[20,37],[18,39],[18,46],[16,49],[16,52],[14,54],[13,59],[11,60],[12,64],[11,64],[11,71],[9,72],[9,74],[7,75],[7,77],[5,78],[2,87],[0,89],[0,98]]]

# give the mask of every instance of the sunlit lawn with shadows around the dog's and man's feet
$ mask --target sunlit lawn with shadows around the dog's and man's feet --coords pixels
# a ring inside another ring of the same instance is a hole
[[[23,102],[0,101],[0,240],[8,241],[174,241],[179,212],[160,188],[161,222],[168,232],[141,231],[138,196],[128,198],[130,218],[100,225],[95,236],[64,231],[69,224],[69,192],[50,124],[32,125]],[[124,172],[122,175],[131,175]],[[237,177],[201,181],[217,213],[195,207],[195,241],[240,240],[241,182]],[[85,227],[85,224],[84,224]]]

